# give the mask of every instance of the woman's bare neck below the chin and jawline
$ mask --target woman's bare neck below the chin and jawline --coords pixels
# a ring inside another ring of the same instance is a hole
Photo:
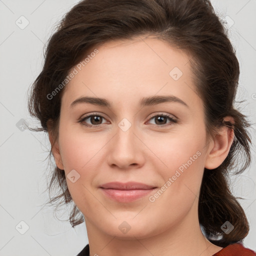
[[[197,208],[197,204],[195,205]],[[202,234],[198,215],[191,210],[177,224],[166,231],[147,238],[130,237],[119,239],[100,231],[93,223],[86,219],[90,256],[130,256],[130,255],[161,255],[185,256],[200,255],[211,256],[221,249],[210,243]]]

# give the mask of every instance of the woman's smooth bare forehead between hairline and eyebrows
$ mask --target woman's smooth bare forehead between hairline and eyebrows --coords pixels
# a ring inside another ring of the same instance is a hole
[[[82,61],[62,96],[69,104],[85,95],[133,102],[157,93],[195,99],[189,56],[157,38],[109,41],[90,47]]]

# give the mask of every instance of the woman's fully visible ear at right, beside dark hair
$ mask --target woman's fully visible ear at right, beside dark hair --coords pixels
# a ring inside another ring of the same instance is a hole
[[[224,117],[223,121],[234,123],[231,116]],[[221,126],[214,139],[210,142],[204,167],[207,169],[217,168],[226,158],[234,139],[234,132],[231,127]]]

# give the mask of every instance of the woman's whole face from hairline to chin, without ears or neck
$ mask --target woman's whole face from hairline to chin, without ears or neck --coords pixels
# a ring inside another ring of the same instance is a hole
[[[54,155],[87,229],[143,238],[197,219],[208,147],[189,57],[149,37],[97,50],[72,69]]]

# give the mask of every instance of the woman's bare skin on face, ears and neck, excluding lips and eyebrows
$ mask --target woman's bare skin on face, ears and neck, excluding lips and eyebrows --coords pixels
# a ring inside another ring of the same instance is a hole
[[[222,163],[233,131],[223,127],[207,143],[189,56],[153,37],[111,41],[97,49],[65,87],[59,136],[53,145],[55,162],[65,171],[72,199],[84,215],[90,255],[206,256],[219,251],[221,247],[210,243],[199,228],[198,196],[204,167]],[[178,80],[169,75],[174,67],[183,73]],[[174,95],[188,107],[179,102],[138,106],[142,97],[155,95]],[[106,98],[112,106],[70,107],[81,96]],[[101,126],[91,118],[83,123],[93,127],[79,122],[92,113],[103,116]],[[157,122],[162,114],[177,122]],[[118,126],[123,118],[131,125],[126,131]],[[49,138],[52,142],[50,133]],[[194,159],[196,152],[200,155]],[[179,171],[153,202],[149,196],[156,191],[124,203],[106,197],[98,187],[110,181],[136,181],[159,190],[190,157],[189,167]],[[80,175],[75,182],[67,178],[72,169]],[[123,221],[130,227],[126,233],[118,228]]]

